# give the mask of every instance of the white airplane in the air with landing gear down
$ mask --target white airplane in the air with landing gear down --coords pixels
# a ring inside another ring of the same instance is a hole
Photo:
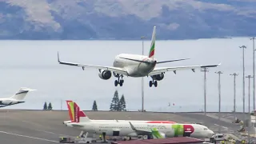
[[[155,67],[157,64],[166,63],[166,62],[177,62],[186,60],[189,58],[183,59],[174,59],[169,61],[162,61],[158,62],[156,58],[154,58],[154,48],[155,48],[155,38],[156,38],[156,26],[154,26],[152,39],[151,39],[151,46],[150,46],[150,53],[148,56],[138,55],[138,54],[118,54],[114,58],[113,66],[94,66],[88,64],[79,64],[79,63],[72,63],[72,62],[62,62],[59,59],[58,55],[58,62],[62,65],[69,65],[69,66],[81,66],[82,70],[86,68],[94,68],[99,70],[99,78],[104,80],[110,79],[113,73],[114,77],[118,78],[118,80],[114,81],[114,86],[122,86],[124,80],[122,79],[123,76],[127,77],[148,77],[152,78],[150,81],[151,86],[158,86],[158,81],[161,81],[164,78],[164,74],[167,71],[173,71],[176,74],[177,70],[193,70],[194,69],[201,69],[204,67],[215,67],[217,65],[202,65],[202,66],[176,66],[176,67]],[[121,78],[121,79],[120,79]]]

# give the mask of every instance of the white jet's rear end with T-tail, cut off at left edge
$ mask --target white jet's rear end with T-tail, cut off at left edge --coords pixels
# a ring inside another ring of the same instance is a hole
[[[10,98],[0,98],[0,107],[11,106],[11,105],[25,102],[23,101],[23,99],[26,97],[26,94],[29,91],[33,91],[33,90],[30,88],[21,87],[18,90],[18,92],[13,96],[11,96]]]

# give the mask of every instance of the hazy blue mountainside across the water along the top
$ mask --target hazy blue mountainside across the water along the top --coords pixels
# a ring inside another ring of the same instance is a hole
[[[256,36],[256,0],[0,0],[0,39]]]

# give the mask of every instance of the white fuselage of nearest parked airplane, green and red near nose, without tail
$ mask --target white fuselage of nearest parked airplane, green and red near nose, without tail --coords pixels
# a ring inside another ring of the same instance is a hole
[[[75,124],[75,123],[74,123]],[[129,122],[80,122],[77,123],[82,126],[72,126],[72,123],[68,123],[67,126],[78,128],[79,130],[85,130],[92,134],[102,134],[105,132],[108,136],[130,136],[137,137],[138,135],[132,130]],[[183,136],[184,131],[191,130],[190,137],[194,138],[206,138],[214,134],[212,130],[209,130],[206,126],[198,124],[170,124],[170,123],[132,123],[137,130],[151,131],[152,128],[157,128],[161,134],[166,134],[167,138]],[[175,126],[173,126],[175,125]],[[190,128],[192,126],[192,128]],[[118,135],[114,135],[114,132],[119,131]]]

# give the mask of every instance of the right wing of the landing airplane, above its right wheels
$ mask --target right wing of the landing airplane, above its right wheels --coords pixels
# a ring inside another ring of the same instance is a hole
[[[202,69],[202,68],[205,68],[205,67],[216,67],[216,66],[219,66],[219,65],[221,65],[221,64],[217,64],[217,65],[202,65],[202,66],[156,67],[148,75],[150,76],[150,75],[161,74],[161,73],[165,73],[167,71],[173,71],[174,74],[176,74],[176,70],[193,70],[194,71],[194,69]]]

